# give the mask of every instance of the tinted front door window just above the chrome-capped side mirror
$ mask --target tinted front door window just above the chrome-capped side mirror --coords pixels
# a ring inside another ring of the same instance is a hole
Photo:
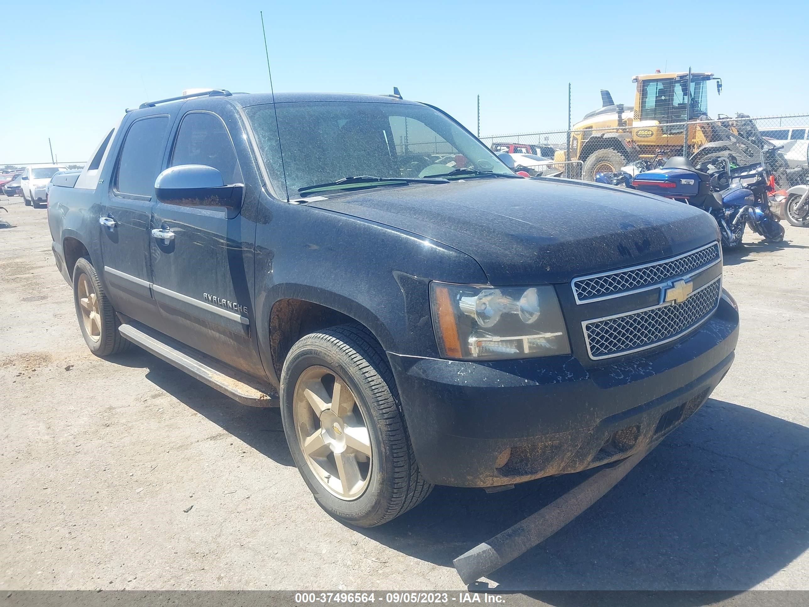
[[[213,167],[222,173],[225,185],[244,182],[225,124],[207,112],[189,112],[180,123],[170,165],[178,164]]]

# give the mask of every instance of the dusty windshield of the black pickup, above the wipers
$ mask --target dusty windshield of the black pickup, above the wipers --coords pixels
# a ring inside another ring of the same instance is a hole
[[[514,175],[441,112],[384,102],[295,102],[245,108],[261,155],[284,193],[354,176],[429,178],[458,168]],[[277,133],[281,134],[278,146]],[[280,149],[279,149],[280,148]]]

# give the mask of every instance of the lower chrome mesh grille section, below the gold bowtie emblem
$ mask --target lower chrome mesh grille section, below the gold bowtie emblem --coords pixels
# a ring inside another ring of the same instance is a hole
[[[696,329],[718,308],[722,276],[694,291],[679,304],[583,320],[587,354],[593,360],[624,356],[671,342]]]

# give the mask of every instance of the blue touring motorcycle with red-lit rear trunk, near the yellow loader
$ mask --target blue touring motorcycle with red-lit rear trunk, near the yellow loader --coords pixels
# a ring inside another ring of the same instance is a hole
[[[730,158],[721,158],[701,163],[700,168],[683,156],[673,156],[662,168],[638,173],[632,185],[711,214],[723,248],[740,248],[746,226],[768,242],[784,240],[784,227],[769,208],[767,193],[773,186],[764,154],[760,162],[743,167],[731,167]]]

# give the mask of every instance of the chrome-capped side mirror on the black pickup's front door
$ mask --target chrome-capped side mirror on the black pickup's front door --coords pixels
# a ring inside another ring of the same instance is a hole
[[[225,185],[222,174],[205,164],[180,164],[157,176],[155,194],[160,202],[169,205],[239,209],[244,185]]]

